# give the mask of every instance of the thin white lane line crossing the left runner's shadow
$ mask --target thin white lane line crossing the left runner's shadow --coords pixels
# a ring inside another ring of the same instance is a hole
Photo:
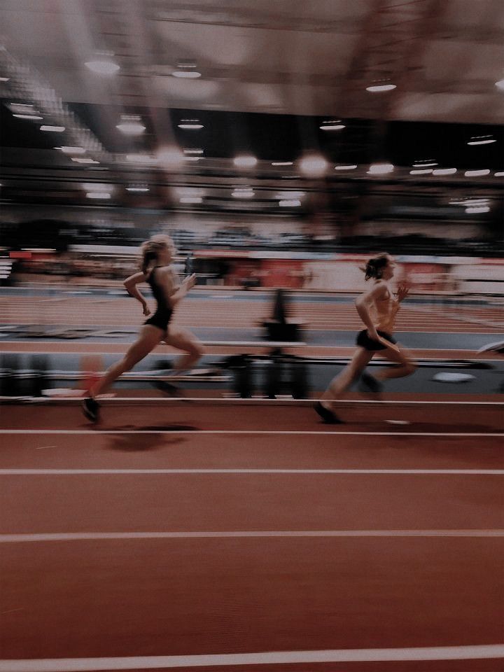
[[[504,437],[504,433],[492,432],[332,432],[301,430],[253,430],[253,429],[0,429],[0,434],[197,434],[197,435],[300,435],[300,436],[477,436]]]

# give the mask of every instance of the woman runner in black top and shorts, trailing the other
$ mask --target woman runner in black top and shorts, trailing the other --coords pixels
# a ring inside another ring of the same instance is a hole
[[[176,273],[170,265],[176,250],[172,239],[168,236],[153,236],[142,245],[141,251],[141,272],[127,278],[124,285],[127,292],[142,304],[144,315],[149,316],[151,311],[137,288],[139,283],[147,282],[153,291],[156,310],[153,316],[146,320],[139,338],[130,346],[124,358],[112,365],[88,391],[88,396],[83,401],[83,412],[92,422],[97,422],[99,419],[97,395],[104,393],[113,381],[126,371],[130,371],[160,342],[164,341],[167,345],[186,352],[176,361],[172,370],[174,374],[193,367],[204,352],[202,343],[188,329],[169,325],[174,307],[194,286],[196,276],[190,275],[179,284]]]

